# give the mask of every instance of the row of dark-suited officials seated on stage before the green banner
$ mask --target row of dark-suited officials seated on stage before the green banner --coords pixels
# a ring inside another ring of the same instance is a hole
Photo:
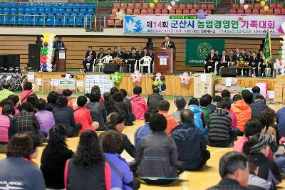
[[[206,58],[206,63],[204,65],[205,73],[211,73],[214,72],[215,64],[217,63],[217,75],[219,75],[219,69],[221,67],[227,67],[228,63],[237,63],[238,61],[247,61],[249,63],[249,66],[258,68],[259,63],[261,64],[261,73],[264,73],[264,69],[266,68],[266,65],[264,64],[264,59],[262,58],[263,51],[259,51],[259,54],[257,54],[255,51],[248,51],[246,52],[245,49],[242,49],[242,52],[239,51],[239,48],[235,50],[229,51],[229,54],[227,54],[227,50],[222,51],[222,55],[219,55],[219,51],[214,49],[211,50],[209,55]],[[211,68],[208,68],[208,67]],[[269,66],[272,68],[273,65]],[[273,71],[273,70],[272,70]],[[256,74],[258,75],[257,69]]]

